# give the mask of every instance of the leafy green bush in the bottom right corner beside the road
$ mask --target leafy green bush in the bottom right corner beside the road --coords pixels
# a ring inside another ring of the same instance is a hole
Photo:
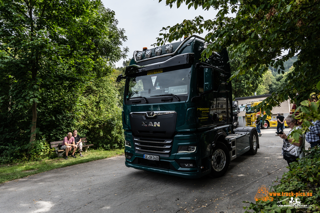
[[[244,209],[253,210],[255,212],[320,212],[320,148],[315,147],[306,151],[306,156],[298,162],[291,163],[288,168],[289,172],[284,173],[281,180],[276,180],[276,185],[272,186],[269,193],[280,193],[280,196],[274,196],[273,201],[257,201],[255,204],[249,203],[250,206]],[[272,190],[273,189],[273,190]],[[282,193],[291,193],[294,196],[298,193],[304,193],[305,196],[297,196],[301,205],[307,205],[309,209],[298,209],[293,207],[278,207],[278,205],[288,205],[290,197],[282,196]],[[309,196],[307,196],[309,193]],[[312,193],[312,196],[310,196]],[[279,202],[282,201],[282,202]],[[278,203],[279,202],[279,203]],[[243,202],[248,203],[248,202]],[[245,213],[249,213],[245,211]]]

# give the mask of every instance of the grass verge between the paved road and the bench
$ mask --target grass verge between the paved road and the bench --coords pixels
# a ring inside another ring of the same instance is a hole
[[[72,166],[75,164],[82,164],[90,161],[96,161],[104,158],[110,158],[117,155],[124,154],[124,149],[116,150],[88,150],[82,153],[84,157],[76,158],[69,157],[68,160],[64,158],[54,158],[36,162],[28,162],[14,165],[1,165],[0,167],[0,184],[12,181],[19,178],[24,178],[30,175],[46,172],[49,170]]]

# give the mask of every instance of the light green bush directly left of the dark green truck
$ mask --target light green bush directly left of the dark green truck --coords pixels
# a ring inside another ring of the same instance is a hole
[[[122,109],[114,83],[112,74],[97,78],[86,85],[79,97],[76,129],[85,129],[86,137],[96,148],[117,149],[124,144]]]

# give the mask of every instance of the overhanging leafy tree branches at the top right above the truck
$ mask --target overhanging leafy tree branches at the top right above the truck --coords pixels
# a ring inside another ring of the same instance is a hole
[[[207,31],[205,40],[208,46],[202,52],[203,58],[229,46],[232,48],[230,60],[241,57],[241,63],[231,78],[251,70],[263,74],[268,67],[279,67],[278,73],[283,74],[284,62],[297,56],[294,70],[287,75],[289,80],[273,93],[275,101],[268,101],[269,105],[277,106],[288,98],[300,103],[310,93],[318,92],[314,86],[320,80],[320,39],[317,33],[320,30],[320,4],[317,1],[166,0],[170,7],[173,4],[179,7],[181,3],[188,8],[215,9],[218,13],[212,19],[197,16],[163,27],[156,45]],[[287,52],[282,54],[283,50]]]

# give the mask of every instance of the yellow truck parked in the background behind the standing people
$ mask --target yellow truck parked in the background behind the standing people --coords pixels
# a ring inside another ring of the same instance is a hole
[[[260,115],[261,110],[257,111],[257,109],[253,110],[252,108],[261,102],[262,101],[252,101],[252,102],[248,102],[246,104],[246,106],[245,106],[245,126],[255,127],[254,121],[256,119],[256,115]],[[263,112],[262,115],[264,115],[264,114],[265,114],[265,112]],[[271,114],[271,116],[267,116],[264,120],[264,124],[261,126],[261,129],[267,129],[269,127],[276,127],[277,126],[276,116],[277,116],[276,113]],[[287,127],[285,122],[284,122],[284,126]]]

